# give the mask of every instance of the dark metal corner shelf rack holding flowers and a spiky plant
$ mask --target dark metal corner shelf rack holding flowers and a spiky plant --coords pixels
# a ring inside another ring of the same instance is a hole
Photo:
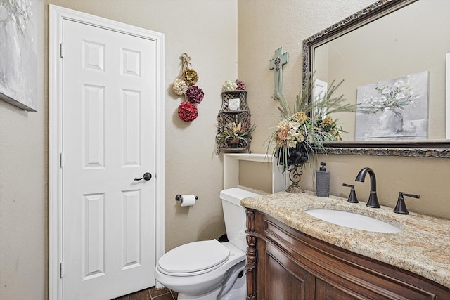
[[[248,150],[255,124],[250,122],[247,91],[242,81],[226,81],[222,86],[222,106],[217,115],[217,151]]]

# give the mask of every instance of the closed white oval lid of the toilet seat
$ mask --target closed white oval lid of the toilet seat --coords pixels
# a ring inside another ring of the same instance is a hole
[[[221,266],[229,254],[230,250],[217,240],[191,242],[161,256],[158,266],[164,273],[205,273]]]

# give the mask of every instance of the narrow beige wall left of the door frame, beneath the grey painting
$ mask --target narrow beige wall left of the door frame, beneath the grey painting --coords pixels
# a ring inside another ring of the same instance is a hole
[[[44,0],[35,3],[37,112],[0,100],[0,299],[46,299]]]

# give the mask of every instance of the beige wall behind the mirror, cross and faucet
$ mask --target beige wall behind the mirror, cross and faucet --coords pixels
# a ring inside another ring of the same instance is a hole
[[[269,60],[283,46],[289,63],[283,67],[283,93],[294,101],[302,82],[302,41],[348,15],[368,6],[372,0],[239,0],[238,1],[238,76],[248,86],[252,120],[257,130],[252,152],[266,152],[264,141],[276,126],[277,103],[271,99],[274,72]],[[420,200],[407,199],[410,211],[450,218],[450,159],[413,157],[371,157],[328,155],[331,193],[347,197],[342,183],[354,183],[362,167],[371,167],[377,176],[381,204],[394,207],[398,192],[420,194]],[[312,173],[304,170],[302,185],[314,190]],[[257,172],[255,172],[257,173]],[[359,199],[366,202],[369,183],[355,183]]]

